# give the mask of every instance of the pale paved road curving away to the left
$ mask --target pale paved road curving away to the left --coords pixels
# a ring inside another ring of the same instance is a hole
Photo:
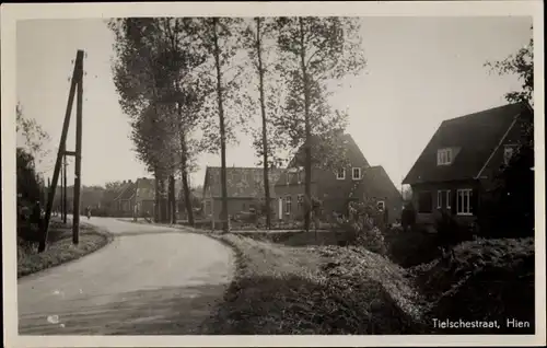
[[[79,260],[19,280],[20,335],[198,334],[232,279],[232,251],[181,230],[90,222],[116,237]]]

